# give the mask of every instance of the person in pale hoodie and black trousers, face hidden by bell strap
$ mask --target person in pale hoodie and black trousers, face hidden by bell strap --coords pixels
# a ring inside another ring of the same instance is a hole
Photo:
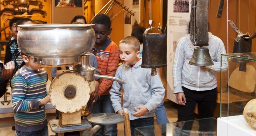
[[[221,71],[221,54],[226,54],[222,40],[208,33],[209,49],[214,62],[212,66],[189,65],[191,56],[196,48],[186,34],[177,44],[174,64],[174,93],[177,94],[178,121],[193,120],[195,106],[198,104],[198,117],[213,117],[217,99],[217,72]],[[227,68],[227,61],[223,61]],[[187,125],[189,126],[189,125]],[[200,125],[202,126],[202,125]],[[191,129],[190,127],[186,128]]]

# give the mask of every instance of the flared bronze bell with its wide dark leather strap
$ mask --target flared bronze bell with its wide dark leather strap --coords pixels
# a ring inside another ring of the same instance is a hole
[[[191,2],[190,14],[190,39],[194,46],[200,46],[194,49],[194,53],[188,64],[195,66],[214,65],[209,53],[208,46],[208,0],[193,0]]]

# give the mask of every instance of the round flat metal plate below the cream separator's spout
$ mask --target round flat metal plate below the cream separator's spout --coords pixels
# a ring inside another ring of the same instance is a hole
[[[124,116],[115,113],[97,113],[86,117],[90,123],[99,125],[112,125],[124,121]]]

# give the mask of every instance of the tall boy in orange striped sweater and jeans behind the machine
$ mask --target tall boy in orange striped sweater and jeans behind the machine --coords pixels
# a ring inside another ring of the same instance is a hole
[[[111,21],[106,14],[97,14],[93,21],[96,42],[90,51],[96,56],[98,69],[101,75],[114,77],[119,63],[119,51],[117,45],[108,37],[111,33]],[[115,113],[110,100],[109,90],[113,80],[99,79],[99,89],[91,94],[91,99],[97,100],[92,109],[93,113]],[[96,135],[117,135],[116,124],[103,125]]]

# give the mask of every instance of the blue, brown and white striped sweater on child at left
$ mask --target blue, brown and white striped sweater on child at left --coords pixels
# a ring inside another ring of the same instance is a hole
[[[23,66],[13,76],[12,103],[15,129],[20,132],[32,132],[47,125],[44,106],[39,107],[38,99],[46,97],[47,73]]]

